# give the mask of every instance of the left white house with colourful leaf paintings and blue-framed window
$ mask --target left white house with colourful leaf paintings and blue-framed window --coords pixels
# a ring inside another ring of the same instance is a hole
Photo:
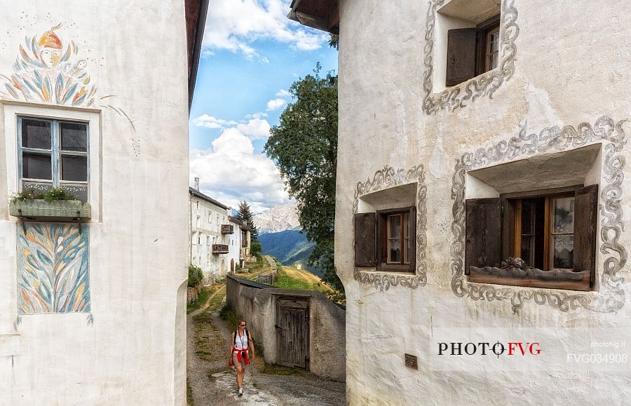
[[[0,404],[186,403],[207,8],[0,1]]]

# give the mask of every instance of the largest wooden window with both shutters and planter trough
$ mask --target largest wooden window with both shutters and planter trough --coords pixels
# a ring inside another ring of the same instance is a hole
[[[466,273],[472,282],[590,290],[598,185],[466,201]]]

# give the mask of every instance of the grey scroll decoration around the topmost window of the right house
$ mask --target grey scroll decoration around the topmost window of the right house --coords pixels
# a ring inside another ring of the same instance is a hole
[[[502,83],[510,79],[515,73],[515,55],[517,55],[515,40],[520,34],[520,27],[516,23],[517,8],[514,6],[515,0],[503,0],[501,4],[499,67],[440,93],[433,93],[436,13],[437,9],[446,1],[430,0],[428,4],[425,48],[423,49],[425,54],[423,58],[425,65],[423,111],[426,114],[435,114],[439,110],[454,111],[466,107],[470,102],[473,103],[484,96],[493,98],[493,94],[502,86]]]

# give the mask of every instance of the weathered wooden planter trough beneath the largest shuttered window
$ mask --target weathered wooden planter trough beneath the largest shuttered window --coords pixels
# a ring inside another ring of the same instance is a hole
[[[590,291],[590,271],[574,272],[569,269],[500,269],[492,266],[469,267],[467,280],[474,283],[493,283],[523,287]]]

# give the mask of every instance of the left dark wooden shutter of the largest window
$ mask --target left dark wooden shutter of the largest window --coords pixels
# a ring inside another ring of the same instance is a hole
[[[468,199],[466,216],[466,273],[469,266],[499,266],[502,255],[500,199]]]

